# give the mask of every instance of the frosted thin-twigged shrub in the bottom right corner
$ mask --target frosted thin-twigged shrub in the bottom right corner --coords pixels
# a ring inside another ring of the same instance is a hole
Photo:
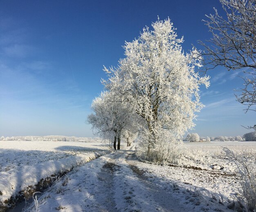
[[[247,211],[256,211],[256,165],[255,157],[243,151],[240,154],[234,153],[228,148],[223,148],[226,156],[236,164],[239,183],[242,188],[238,194],[238,201]]]

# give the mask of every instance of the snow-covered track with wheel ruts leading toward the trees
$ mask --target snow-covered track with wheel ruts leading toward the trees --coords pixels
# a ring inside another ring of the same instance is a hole
[[[229,211],[193,188],[188,190],[174,181],[163,181],[157,172],[144,173],[141,163],[134,151],[101,156],[52,186],[38,200],[38,209],[42,212]],[[32,206],[26,211],[31,210]]]

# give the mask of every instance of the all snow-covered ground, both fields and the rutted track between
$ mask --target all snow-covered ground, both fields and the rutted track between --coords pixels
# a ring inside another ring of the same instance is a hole
[[[136,158],[136,145],[112,153],[101,143],[0,141],[0,147],[2,202],[75,167],[28,212],[229,211],[240,185],[222,147],[256,154],[256,142],[184,143],[183,165],[154,165]]]

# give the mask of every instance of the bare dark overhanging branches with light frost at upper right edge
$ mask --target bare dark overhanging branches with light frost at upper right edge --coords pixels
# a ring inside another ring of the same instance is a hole
[[[226,17],[215,10],[207,16],[206,25],[212,33],[207,43],[200,42],[205,50],[204,65],[207,69],[224,66],[227,70],[245,73],[244,87],[238,102],[247,105],[245,111],[256,111],[256,1],[220,0]],[[250,128],[252,129],[252,127]]]

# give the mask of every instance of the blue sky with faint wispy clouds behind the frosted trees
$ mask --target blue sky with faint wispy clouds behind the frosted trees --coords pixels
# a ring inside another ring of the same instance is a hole
[[[145,25],[167,17],[184,36],[184,51],[211,36],[202,22],[218,0],[0,0],[0,136],[92,137],[85,124],[90,105],[103,90],[103,65],[116,66],[122,46]],[[200,136],[236,136],[254,125],[234,96],[239,72],[209,71],[202,88],[206,107],[198,114]]]

